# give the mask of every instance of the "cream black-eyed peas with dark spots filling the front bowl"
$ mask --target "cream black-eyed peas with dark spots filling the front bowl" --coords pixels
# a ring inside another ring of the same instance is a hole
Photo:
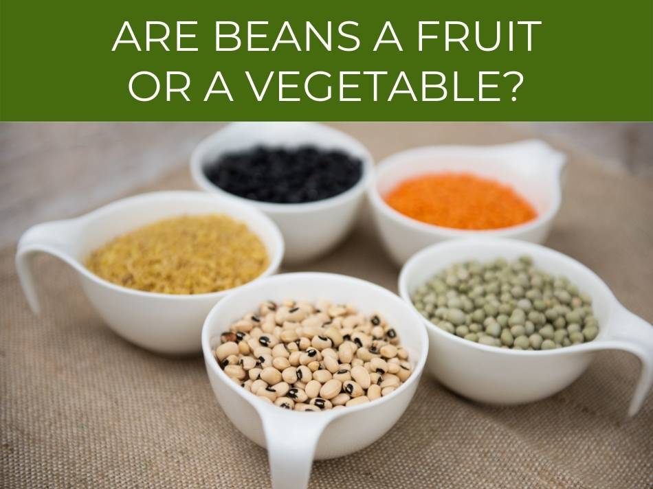
[[[296,411],[364,404],[412,373],[408,352],[381,315],[325,300],[265,302],[221,335],[214,354],[247,391]]]

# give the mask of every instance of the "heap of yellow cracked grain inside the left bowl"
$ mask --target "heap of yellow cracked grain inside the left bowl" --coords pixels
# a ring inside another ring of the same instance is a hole
[[[159,220],[91,253],[87,268],[139,291],[203,294],[250,282],[269,263],[261,240],[221,214]]]

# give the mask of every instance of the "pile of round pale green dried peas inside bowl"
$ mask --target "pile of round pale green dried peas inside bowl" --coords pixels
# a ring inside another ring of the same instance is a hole
[[[551,350],[599,334],[591,297],[529,256],[453,264],[417,288],[412,302],[438,328],[483,345]]]

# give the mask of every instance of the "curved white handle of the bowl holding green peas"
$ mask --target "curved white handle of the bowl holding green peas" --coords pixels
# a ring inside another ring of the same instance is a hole
[[[634,416],[653,385],[653,326],[623,306],[619,307],[614,321],[617,327],[611,328],[606,337],[608,348],[625,350],[641,361],[641,374],[628,408],[628,416]]]

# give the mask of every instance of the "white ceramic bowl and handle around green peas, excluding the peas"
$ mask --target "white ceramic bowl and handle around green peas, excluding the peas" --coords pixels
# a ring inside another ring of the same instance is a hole
[[[625,350],[642,363],[629,409],[631,416],[637,413],[653,383],[653,326],[626,310],[593,271],[573,258],[518,240],[449,240],[408,260],[399,275],[399,293],[412,306],[412,292],[455,262],[487,262],[500,257],[514,260],[521,255],[531,255],[535,266],[568,277],[592,297],[599,320],[597,338],[555,350],[508,350],[459,338],[422,318],[430,341],[428,372],[462,396],[508,405],[539,400],[564,389],[584,372],[597,350]]]

